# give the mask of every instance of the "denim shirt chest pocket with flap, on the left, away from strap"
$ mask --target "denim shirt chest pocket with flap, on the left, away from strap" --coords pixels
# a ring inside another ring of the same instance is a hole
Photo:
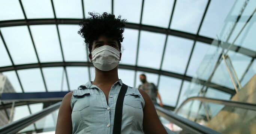
[[[90,92],[89,91],[83,91],[83,92],[78,91],[78,92],[73,93],[73,96],[76,98],[76,102],[73,107],[73,112],[81,111],[82,109],[90,106],[90,103],[89,103]]]

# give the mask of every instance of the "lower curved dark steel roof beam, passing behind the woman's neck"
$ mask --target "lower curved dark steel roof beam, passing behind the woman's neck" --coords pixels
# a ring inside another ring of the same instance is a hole
[[[29,69],[29,68],[39,68],[39,67],[68,67],[68,66],[82,66],[82,67],[93,67],[91,62],[55,62],[55,63],[34,63],[34,64],[23,64],[23,65],[15,65],[15,66],[7,66],[7,67],[0,67],[0,72],[4,71],[12,71],[12,70],[21,70],[21,69]],[[138,67],[138,66],[130,66],[120,64],[119,68],[135,70],[135,71],[144,71],[148,73],[155,73],[164,76],[175,77],[181,80],[192,81],[193,77],[186,76],[184,74],[178,74],[169,71],[157,70],[152,68],[146,67]],[[200,84],[204,84],[205,80],[197,79]],[[228,87],[223,87],[218,84],[208,83],[206,86],[212,87],[214,89],[229,93],[231,95],[235,95],[235,90],[229,89]]]

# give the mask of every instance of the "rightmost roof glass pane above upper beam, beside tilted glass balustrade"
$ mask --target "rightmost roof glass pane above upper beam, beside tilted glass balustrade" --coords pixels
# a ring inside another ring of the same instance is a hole
[[[223,22],[228,16],[228,13],[234,3],[235,0],[212,0],[199,34],[210,38],[216,38],[220,27],[223,25]]]

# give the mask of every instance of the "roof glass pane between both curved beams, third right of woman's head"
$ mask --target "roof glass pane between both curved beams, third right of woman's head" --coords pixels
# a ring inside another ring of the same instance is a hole
[[[168,36],[162,69],[184,74],[192,46],[192,40]]]

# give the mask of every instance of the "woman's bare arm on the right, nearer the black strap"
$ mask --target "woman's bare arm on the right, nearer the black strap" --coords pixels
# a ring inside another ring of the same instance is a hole
[[[143,131],[145,134],[167,134],[165,128],[160,122],[154,104],[148,94],[139,89],[144,101],[145,106],[143,109]]]

